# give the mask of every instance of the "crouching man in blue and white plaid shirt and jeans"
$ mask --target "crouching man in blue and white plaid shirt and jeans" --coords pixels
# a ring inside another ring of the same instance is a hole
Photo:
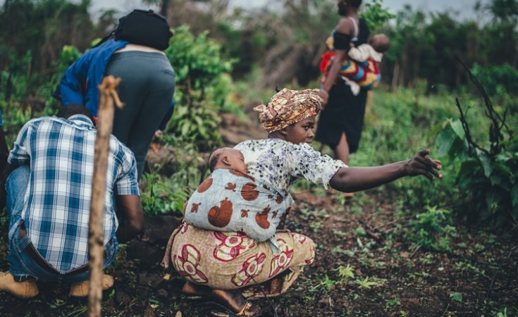
[[[70,296],[88,294],[88,221],[96,130],[84,106],[27,122],[4,171],[9,216],[9,272],[0,290],[38,294],[36,280],[70,283]],[[142,230],[135,156],[111,136],[104,208],[104,268],[118,242]],[[104,275],[103,288],[113,285]]]

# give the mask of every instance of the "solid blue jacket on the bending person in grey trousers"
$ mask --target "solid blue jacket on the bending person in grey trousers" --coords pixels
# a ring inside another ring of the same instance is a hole
[[[87,51],[66,70],[53,94],[54,98],[61,101],[63,106],[82,104],[97,117],[98,87],[106,73],[111,54],[127,44],[128,42],[121,39],[110,39],[101,46]]]

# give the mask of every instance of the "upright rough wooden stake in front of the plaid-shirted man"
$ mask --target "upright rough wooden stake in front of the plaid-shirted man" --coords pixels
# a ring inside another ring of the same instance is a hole
[[[104,193],[106,192],[106,168],[113,127],[113,103],[122,107],[116,87],[120,78],[104,77],[99,85],[99,110],[97,116],[97,136],[95,137],[94,178],[92,180],[92,200],[90,201],[90,221],[88,238],[90,255],[90,289],[88,296],[88,316],[101,316],[102,276],[104,264]]]

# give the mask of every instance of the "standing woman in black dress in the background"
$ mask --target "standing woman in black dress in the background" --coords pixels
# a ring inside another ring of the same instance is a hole
[[[340,76],[343,61],[351,44],[367,42],[369,27],[358,18],[362,0],[338,0],[338,14],[342,15],[326,44],[335,51],[326,80],[319,95],[323,99],[315,139],[334,151],[335,159],[349,164],[349,154],[358,149],[362,135],[367,92],[361,89],[357,96]],[[350,194],[352,196],[352,194]]]

